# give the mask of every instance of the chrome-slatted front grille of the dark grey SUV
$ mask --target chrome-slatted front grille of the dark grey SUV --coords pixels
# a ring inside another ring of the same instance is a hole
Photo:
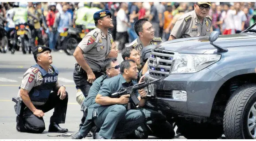
[[[155,49],[149,56],[149,74],[158,77],[167,77],[171,72],[171,65],[173,63],[174,52]],[[154,60],[158,60],[158,65],[153,66]]]

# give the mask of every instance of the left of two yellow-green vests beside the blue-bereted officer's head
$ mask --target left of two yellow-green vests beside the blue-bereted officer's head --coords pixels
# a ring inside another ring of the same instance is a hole
[[[76,25],[85,25],[85,16],[86,13],[89,11],[88,7],[81,7],[76,11]]]

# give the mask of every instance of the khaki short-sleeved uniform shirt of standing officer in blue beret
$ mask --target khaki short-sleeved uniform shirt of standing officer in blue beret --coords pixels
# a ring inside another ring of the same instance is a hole
[[[112,48],[113,38],[111,33],[108,35],[96,28],[83,37],[78,47],[84,52],[86,62],[94,72],[100,71],[101,63],[107,58]]]

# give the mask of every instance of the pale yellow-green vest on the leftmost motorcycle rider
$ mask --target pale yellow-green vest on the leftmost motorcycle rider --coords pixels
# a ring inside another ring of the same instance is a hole
[[[15,15],[13,16],[13,22],[15,24],[27,22],[27,9],[18,7],[15,9]]]

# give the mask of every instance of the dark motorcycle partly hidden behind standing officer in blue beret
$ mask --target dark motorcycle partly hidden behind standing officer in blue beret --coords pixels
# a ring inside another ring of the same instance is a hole
[[[85,26],[77,25],[64,29],[60,36],[63,37],[61,41],[62,49],[67,55],[73,55],[75,48],[78,46],[82,38],[93,29],[86,29]]]

